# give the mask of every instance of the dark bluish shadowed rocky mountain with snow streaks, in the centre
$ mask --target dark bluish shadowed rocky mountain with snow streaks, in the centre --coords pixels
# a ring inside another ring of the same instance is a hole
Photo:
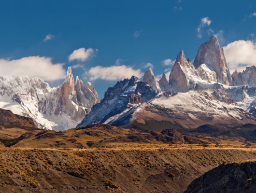
[[[155,83],[155,82],[154,82]],[[128,111],[141,105],[144,101],[154,98],[157,91],[152,85],[139,81],[135,76],[118,81],[109,87],[100,103],[93,106],[78,127],[92,123],[111,124]],[[126,117],[125,123],[130,117]]]

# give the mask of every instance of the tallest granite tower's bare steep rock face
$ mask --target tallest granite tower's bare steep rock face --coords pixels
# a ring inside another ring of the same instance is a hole
[[[198,49],[194,66],[197,68],[201,64],[206,64],[208,68],[216,72],[218,83],[233,85],[224,50],[220,48],[219,42],[214,36],[202,43]]]

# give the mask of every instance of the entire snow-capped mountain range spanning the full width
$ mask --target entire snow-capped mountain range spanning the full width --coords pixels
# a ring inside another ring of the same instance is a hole
[[[71,67],[61,87],[41,78],[0,77],[0,108],[30,117],[38,128],[66,130],[110,124],[140,130],[191,129],[212,124],[232,128],[256,124],[256,67],[230,73],[223,48],[211,36],[192,63],[179,52],[169,80],[157,81],[152,69],[142,81],[118,81],[99,99],[91,83]]]

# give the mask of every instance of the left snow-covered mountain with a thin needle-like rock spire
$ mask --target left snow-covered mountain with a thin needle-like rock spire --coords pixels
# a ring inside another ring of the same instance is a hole
[[[39,128],[75,127],[98,102],[90,83],[85,87],[78,77],[74,83],[71,68],[60,88],[51,88],[36,77],[0,77],[0,108],[31,117]]]

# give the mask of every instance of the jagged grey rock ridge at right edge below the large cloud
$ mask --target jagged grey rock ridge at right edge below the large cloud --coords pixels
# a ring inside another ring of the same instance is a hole
[[[234,86],[246,85],[256,87],[256,67],[246,67],[242,72],[237,70],[232,74]]]

